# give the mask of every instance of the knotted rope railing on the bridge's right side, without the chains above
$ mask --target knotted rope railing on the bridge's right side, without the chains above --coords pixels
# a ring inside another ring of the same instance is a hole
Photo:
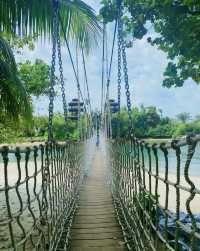
[[[199,141],[110,141],[112,193],[129,250],[200,250],[200,175],[192,174]]]

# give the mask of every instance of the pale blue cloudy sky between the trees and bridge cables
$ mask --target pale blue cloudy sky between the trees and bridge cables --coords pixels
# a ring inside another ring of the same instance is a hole
[[[99,8],[99,1],[87,0],[96,10]],[[112,25],[109,31],[112,31]],[[110,32],[111,34],[111,32]],[[109,38],[109,47],[111,47],[112,39]],[[76,96],[76,84],[69,62],[69,56],[66,48],[63,51],[64,76],[66,80],[66,97],[68,100]],[[100,107],[101,100],[101,44],[93,50],[87,57],[87,72],[91,94],[91,102],[93,107]],[[50,63],[51,60],[51,44],[49,42],[38,42],[34,51],[27,49],[18,57],[18,61],[26,59],[34,61],[41,58],[45,62]],[[112,79],[110,86],[110,96],[117,97],[117,57],[115,55],[113,62]],[[145,106],[154,105],[163,110],[165,115],[175,117],[180,112],[189,112],[192,116],[199,114],[200,86],[189,80],[182,88],[163,88],[163,71],[167,64],[166,55],[152,47],[146,42],[146,38],[135,41],[133,48],[127,50],[129,82],[131,91],[131,100],[133,106],[144,104]],[[81,60],[81,59],[80,59]],[[81,72],[81,61],[80,61]],[[82,77],[80,73],[80,78]],[[84,92],[84,85],[82,83]],[[125,104],[125,91],[122,88],[122,103]],[[35,100],[35,112],[39,114],[47,113],[48,99],[40,98]],[[55,111],[62,111],[60,98],[56,99]]]

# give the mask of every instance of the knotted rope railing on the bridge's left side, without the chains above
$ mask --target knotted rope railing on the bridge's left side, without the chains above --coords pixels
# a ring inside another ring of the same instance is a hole
[[[67,250],[84,144],[0,149],[0,250]]]

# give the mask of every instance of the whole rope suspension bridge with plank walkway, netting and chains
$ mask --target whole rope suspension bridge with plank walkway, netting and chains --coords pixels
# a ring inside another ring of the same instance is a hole
[[[25,148],[0,148],[0,250],[200,250],[200,188],[190,176],[200,136],[152,145],[134,136],[120,5],[118,12],[109,63],[106,26],[103,28],[102,68],[107,65],[107,75],[105,83],[102,71],[101,113],[94,117],[84,52],[81,54],[88,102],[81,92],[58,5],[54,6],[48,142]],[[65,97],[59,30],[63,30],[77,81],[78,97],[69,104]],[[116,39],[117,102],[109,94]],[[82,114],[87,120],[85,133],[80,133],[76,141],[67,136],[63,142],[54,141],[57,56],[66,131],[69,120],[77,121],[79,127]],[[113,139],[111,117],[113,113],[120,114],[122,73],[129,134],[126,139]],[[175,170],[173,177],[170,165]],[[170,203],[172,197],[174,203]]]

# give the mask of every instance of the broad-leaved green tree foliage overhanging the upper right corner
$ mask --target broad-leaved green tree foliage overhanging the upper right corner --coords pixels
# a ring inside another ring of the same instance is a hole
[[[103,10],[112,16],[113,4],[103,1]],[[111,2],[115,2],[114,0]],[[192,78],[200,83],[200,1],[123,0],[125,33],[133,39],[142,39],[148,27],[147,41],[168,55],[163,86],[181,87]],[[110,10],[111,9],[111,10]],[[110,21],[110,20],[108,20]],[[111,20],[112,21],[112,20]],[[150,25],[151,24],[151,25]],[[152,32],[152,30],[151,30]]]

